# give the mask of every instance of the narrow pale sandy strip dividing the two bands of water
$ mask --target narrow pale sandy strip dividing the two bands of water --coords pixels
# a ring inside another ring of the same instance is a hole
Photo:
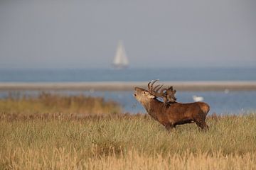
[[[1,91],[9,90],[93,90],[131,91],[134,86],[145,87],[146,81],[102,82],[47,82],[47,83],[0,83]],[[165,86],[174,86],[178,91],[255,91],[256,81],[161,81]]]

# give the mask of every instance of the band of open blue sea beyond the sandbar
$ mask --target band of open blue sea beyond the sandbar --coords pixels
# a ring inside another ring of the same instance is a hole
[[[256,68],[0,69],[0,82],[255,81]]]

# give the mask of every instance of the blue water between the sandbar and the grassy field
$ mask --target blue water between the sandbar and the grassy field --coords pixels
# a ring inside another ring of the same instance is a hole
[[[133,91],[46,91],[64,95],[85,94],[87,96],[101,96],[105,100],[117,101],[121,104],[123,112],[146,113],[144,108],[136,101]],[[10,91],[0,91],[0,98],[9,96]],[[16,96],[28,94],[38,95],[41,91],[12,91]],[[256,111],[256,91],[177,91],[178,102],[193,102],[192,96],[203,96],[204,101],[210,105],[210,114],[240,114]]]

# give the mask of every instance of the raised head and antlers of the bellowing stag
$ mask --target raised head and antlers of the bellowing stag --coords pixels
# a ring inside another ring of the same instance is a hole
[[[152,98],[163,98],[164,105],[166,106],[170,102],[176,102],[176,90],[173,90],[172,86],[170,86],[169,88],[162,88],[163,85],[160,84],[154,86],[156,81],[158,80],[149,81],[148,90],[135,87],[134,97],[142,103],[146,103]]]

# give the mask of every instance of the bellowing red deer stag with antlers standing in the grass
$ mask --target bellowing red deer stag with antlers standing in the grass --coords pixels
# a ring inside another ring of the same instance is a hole
[[[176,91],[173,91],[172,86],[168,89],[161,89],[162,86],[160,85],[154,87],[156,81],[149,82],[148,90],[139,87],[134,89],[134,97],[144,106],[152,118],[164,125],[166,130],[185,123],[196,123],[201,129],[208,129],[206,115],[210,106],[207,103],[178,103],[174,96]],[[157,100],[158,97],[163,98],[164,102]]]

